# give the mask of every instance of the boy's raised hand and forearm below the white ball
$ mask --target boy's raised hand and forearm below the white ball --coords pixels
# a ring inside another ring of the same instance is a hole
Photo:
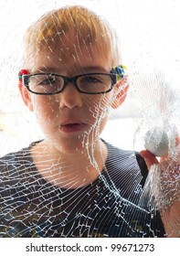
[[[166,236],[180,237],[180,137],[176,138],[174,157],[166,155],[158,161],[146,150],[140,154],[151,172],[154,198],[160,209]]]

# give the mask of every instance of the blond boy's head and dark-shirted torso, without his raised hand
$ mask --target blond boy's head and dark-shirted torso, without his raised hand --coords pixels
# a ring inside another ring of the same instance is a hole
[[[163,237],[159,212],[143,200],[143,158],[101,140],[128,90],[123,66],[112,69],[120,54],[111,28],[65,7],[29,27],[25,43],[19,90],[45,138],[1,159],[0,236]]]

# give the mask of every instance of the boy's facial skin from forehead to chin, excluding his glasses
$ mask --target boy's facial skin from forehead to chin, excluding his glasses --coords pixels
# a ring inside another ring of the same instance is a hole
[[[79,74],[110,73],[111,58],[102,55],[94,45],[78,47],[78,41],[57,41],[50,49],[38,54],[27,67],[31,73],[53,72],[73,77]],[[73,83],[56,95],[36,95],[28,92],[28,107],[37,115],[37,122],[46,142],[64,153],[81,152],[99,140],[113,104],[114,90],[106,94],[89,95],[77,91]]]

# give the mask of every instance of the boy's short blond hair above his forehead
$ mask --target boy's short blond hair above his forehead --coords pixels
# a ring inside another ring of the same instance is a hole
[[[79,37],[79,46],[98,45],[110,55],[113,66],[121,62],[119,40],[106,20],[91,10],[75,5],[53,10],[40,17],[26,31],[23,65],[35,52],[50,48],[57,38]]]

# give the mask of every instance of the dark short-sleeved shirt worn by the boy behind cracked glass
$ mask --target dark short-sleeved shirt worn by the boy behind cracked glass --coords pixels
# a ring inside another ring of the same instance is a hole
[[[0,159],[0,237],[164,237],[143,185],[143,158],[111,144],[90,185],[56,187],[40,176],[30,146]]]

